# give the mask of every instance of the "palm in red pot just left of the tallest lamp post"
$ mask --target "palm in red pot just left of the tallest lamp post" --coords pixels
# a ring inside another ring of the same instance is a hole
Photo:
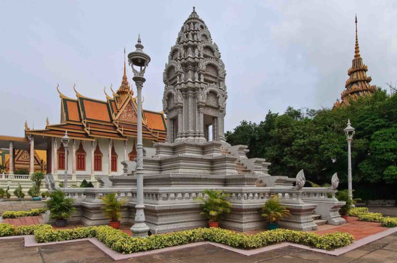
[[[116,193],[107,194],[100,198],[105,204],[102,207],[106,217],[110,219],[109,225],[115,229],[120,228],[121,207],[126,204],[126,199],[118,199]]]

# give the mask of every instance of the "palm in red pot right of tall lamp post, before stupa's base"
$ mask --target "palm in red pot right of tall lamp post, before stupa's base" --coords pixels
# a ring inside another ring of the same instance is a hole
[[[209,227],[219,227],[219,219],[225,214],[230,213],[232,204],[226,199],[228,194],[223,193],[222,190],[204,190],[204,196],[196,197],[195,200],[202,201],[200,214],[205,215],[209,221]]]

